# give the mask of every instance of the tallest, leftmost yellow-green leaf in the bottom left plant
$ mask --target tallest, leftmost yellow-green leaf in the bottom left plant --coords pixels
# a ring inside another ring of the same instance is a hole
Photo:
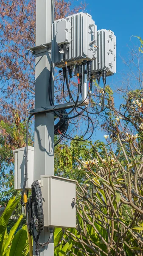
[[[4,210],[3,214],[0,217],[0,255],[2,252],[2,245],[3,245],[3,239],[5,236],[6,228],[8,225],[8,221],[11,217],[12,212],[16,208],[17,204],[19,203],[20,198],[15,199],[11,198],[8,202],[8,205],[6,209]]]

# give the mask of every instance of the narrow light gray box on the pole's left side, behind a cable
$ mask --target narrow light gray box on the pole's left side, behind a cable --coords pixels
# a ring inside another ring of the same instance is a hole
[[[23,189],[25,178],[25,147],[14,152],[14,189]],[[28,146],[26,189],[31,189],[34,182],[34,147]]]

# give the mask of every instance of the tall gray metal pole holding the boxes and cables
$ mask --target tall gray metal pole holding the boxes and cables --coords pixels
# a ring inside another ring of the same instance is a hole
[[[51,0],[36,0],[36,46],[51,42],[52,17]],[[50,51],[36,55],[35,108],[50,105],[48,96],[50,67]],[[54,95],[54,81],[52,81],[52,89]],[[35,115],[34,180],[40,179],[40,175],[54,175],[53,113]],[[46,242],[48,238],[49,232],[45,228],[40,235],[39,242]],[[41,256],[53,256],[53,241],[48,246],[40,248],[40,250]]]

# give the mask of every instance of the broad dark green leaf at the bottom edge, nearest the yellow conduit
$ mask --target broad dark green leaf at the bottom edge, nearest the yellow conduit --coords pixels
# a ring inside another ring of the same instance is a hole
[[[21,256],[26,240],[27,232],[25,230],[19,230],[12,241],[9,256]]]

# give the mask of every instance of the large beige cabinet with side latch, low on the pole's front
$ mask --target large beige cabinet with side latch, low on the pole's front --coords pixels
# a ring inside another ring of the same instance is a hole
[[[76,181],[57,176],[41,176],[45,227],[76,227]]]

